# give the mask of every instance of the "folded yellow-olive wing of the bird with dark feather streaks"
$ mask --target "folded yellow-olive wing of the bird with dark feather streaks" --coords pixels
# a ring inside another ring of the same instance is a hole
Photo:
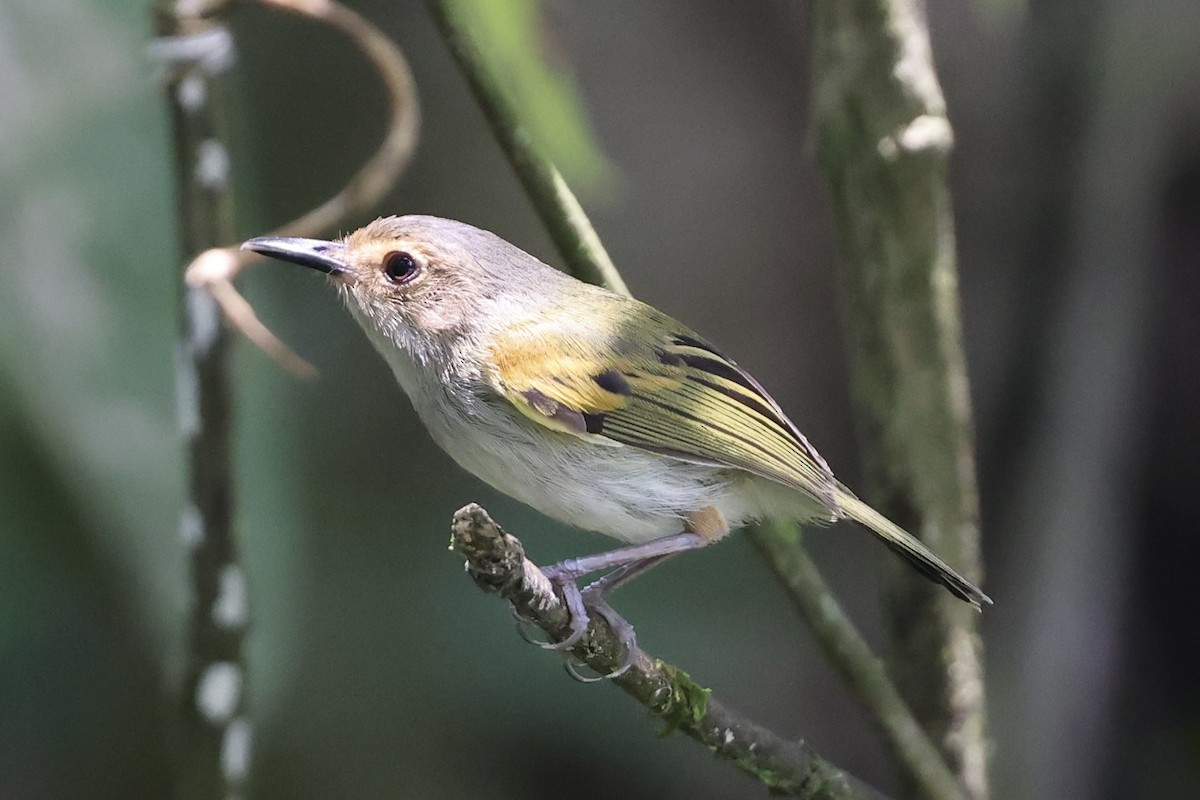
[[[743,469],[836,511],[828,465],[762,386],[678,323],[649,321],[650,337],[516,329],[493,344],[487,379],[552,429]]]

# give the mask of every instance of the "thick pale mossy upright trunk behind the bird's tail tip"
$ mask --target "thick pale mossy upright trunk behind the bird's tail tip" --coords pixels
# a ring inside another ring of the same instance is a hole
[[[918,0],[814,0],[814,106],[833,193],[870,497],[978,581],[978,494],[959,320],[952,146]],[[890,581],[892,669],[974,800],[989,795],[979,618]]]

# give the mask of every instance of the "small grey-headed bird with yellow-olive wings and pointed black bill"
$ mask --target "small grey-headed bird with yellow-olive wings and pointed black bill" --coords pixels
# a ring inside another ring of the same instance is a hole
[[[590,609],[631,660],[632,627],[605,596],[763,518],[853,519],[956,597],[991,602],[834,479],[750,373],[643,302],[438,217],[384,217],[337,241],[264,236],[242,248],[329,275],[458,464],[548,517],[626,543],[546,570],[572,618],[556,648],[582,636]]]

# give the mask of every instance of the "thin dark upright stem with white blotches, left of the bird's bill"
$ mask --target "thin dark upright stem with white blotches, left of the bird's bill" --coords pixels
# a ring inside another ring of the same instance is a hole
[[[215,77],[233,61],[217,18],[181,4],[155,8],[156,54],[167,64],[166,96],[175,144],[180,249],[188,257],[233,237],[223,108]],[[191,567],[191,618],[178,741],[178,787],[188,800],[240,792],[250,766],[245,716],[246,591],[233,518],[232,386],[228,341],[212,296],[180,275],[176,348],[179,417],[187,451],[181,519]]]

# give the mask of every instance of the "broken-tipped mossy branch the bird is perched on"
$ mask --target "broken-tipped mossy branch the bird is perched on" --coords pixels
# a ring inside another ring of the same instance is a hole
[[[570,614],[542,571],[526,558],[520,540],[502,530],[475,504],[455,513],[451,531],[450,547],[463,557],[467,573],[480,589],[511,602],[517,614],[551,639],[566,637]],[[568,652],[600,674],[617,669],[625,655],[599,614],[593,614],[588,632]],[[773,794],[810,800],[881,796],[827,762],[808,742],[781,739],[731,711],[712,697],[712,690],[642,650],[635,654],[634,666],[612,682],[661,718],[664,733],[683,732],[718,758],[752,775]]]

